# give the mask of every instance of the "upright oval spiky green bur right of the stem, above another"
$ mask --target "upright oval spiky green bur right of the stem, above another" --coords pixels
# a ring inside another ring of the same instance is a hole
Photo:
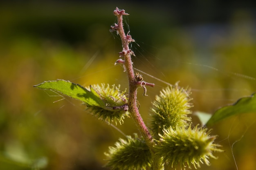
[[[157,95],[155,101],[152,103],[152,131],[155,137],[163,133],[164,128],[188,126],[191,113],[188,109],[191,108],[189,97],[190,91],[179,88],[177,85],[174,87],[168,86]]]

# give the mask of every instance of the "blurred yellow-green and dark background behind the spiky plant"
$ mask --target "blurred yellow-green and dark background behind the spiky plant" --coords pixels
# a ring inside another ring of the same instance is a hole
[[[81,102],[33,85],[66,79],[127,88],[126,73],[114,66],[121,51],[118,36],[109,32],[115,7],[130,13],[124,20],[136,40],[135,68],[189,86],[193,111],[213,113],[256,91],[256,13],[247,1],[1,2],[0,170],[105,169],[103,153],[124,136]],[[167,85],[143,75],[156,84],[148,97],[142,89],[138,94],[149,124],[150,103]],[[244,114],[212,127],[225,152],[201,169],[254,170],[255,120]],[[126,135],[137,132],[129,119],[117,127]]]

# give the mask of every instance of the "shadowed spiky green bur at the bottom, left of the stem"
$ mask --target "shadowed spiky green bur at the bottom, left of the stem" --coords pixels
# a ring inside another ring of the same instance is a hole
[[[127,139],[119,139],[115,147],[109,147],[107,167],[113,170],[144,170],[150,167],[151,154],[144,139],[127,136]]]

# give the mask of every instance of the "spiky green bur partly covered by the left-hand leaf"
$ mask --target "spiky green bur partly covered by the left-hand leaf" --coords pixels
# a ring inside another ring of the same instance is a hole
[[[105,84],[101,86],[97,84],[92,85],[91,88],[99,95],[102,103],[100,106],[89,106],[92,113],[103,120],[108,120],[109,123],[113,121],[116,124],[123,123],[125,116],[129,115],[126,91],[120,92],[120,85],[118,87],[112,85],[110,88],[109,85],[105,87]]]

